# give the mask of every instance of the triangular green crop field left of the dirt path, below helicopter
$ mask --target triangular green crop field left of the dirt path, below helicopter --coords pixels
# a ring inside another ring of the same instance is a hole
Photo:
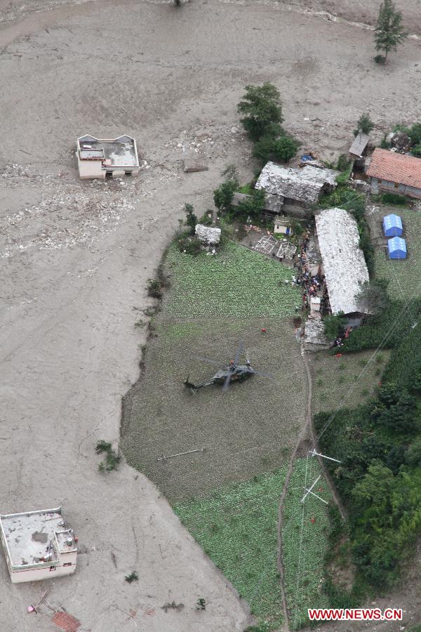
[[[276,565],[278,506],[286,467],[174,506],[183,525],[246,598],[265,629],[283,621]]]

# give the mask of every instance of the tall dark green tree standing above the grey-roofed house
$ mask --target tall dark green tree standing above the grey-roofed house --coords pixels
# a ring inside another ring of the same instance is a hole
[[[237,110],[245,115],[241,124],[250,140],[259,140],[268,132],[274,135],[273,126],[278,128],[283,121],[280,99],[277,88],[268,82],[262,86],[246,86],[246,94]]]

